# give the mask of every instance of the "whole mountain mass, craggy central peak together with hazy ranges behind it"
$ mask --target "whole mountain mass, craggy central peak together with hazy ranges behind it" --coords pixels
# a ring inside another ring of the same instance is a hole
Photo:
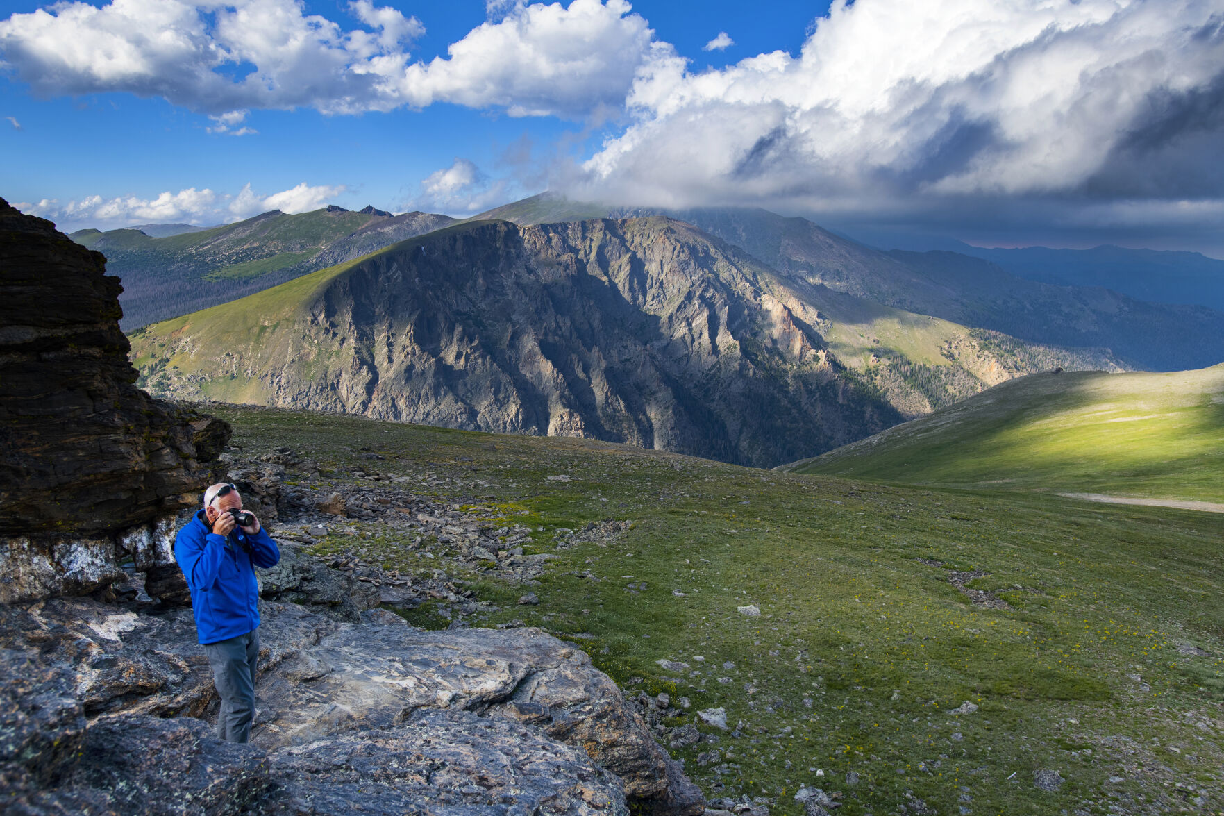
[[[146,326],[131,337],[155,395],[745,464],[1056,366],[1224,360],[1222,311],[958,252],[880,251],[765,210],[660,214],[546,194],[466,222],[327,207],[73,238],[124,278],[124,326]]]

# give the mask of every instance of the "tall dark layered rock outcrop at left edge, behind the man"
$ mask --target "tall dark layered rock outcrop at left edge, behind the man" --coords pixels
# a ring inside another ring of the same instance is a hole
[[[229,426],[136,387],[104,263],[0,200],[0,600],[165,564],[169,519],[219,475]]]

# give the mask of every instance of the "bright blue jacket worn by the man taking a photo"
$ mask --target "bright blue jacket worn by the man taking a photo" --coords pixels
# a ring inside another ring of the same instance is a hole
[[[251,545],[247,555],[240,542]],[[280,550],[267,531],[255,535],[235,528],[213,533],[204,511],[196,512],[174,539],[174,560],[191,587],[191,611],[201,644],[255,631],[259,625],[259,589],[253,567],[275,566]]]

